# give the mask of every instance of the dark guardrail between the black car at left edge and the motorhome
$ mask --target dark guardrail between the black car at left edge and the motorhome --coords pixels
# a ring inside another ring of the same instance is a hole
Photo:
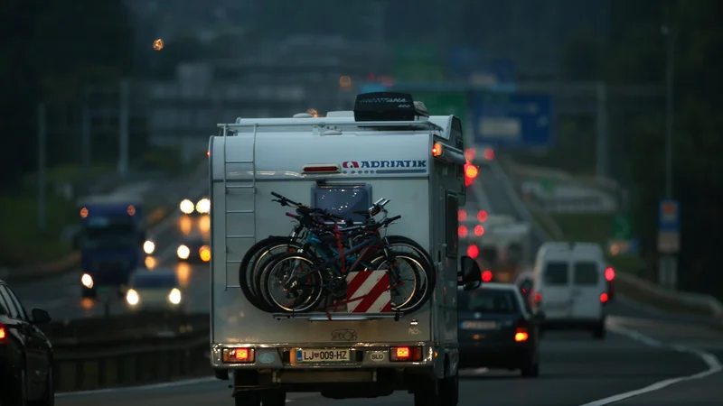
[[[53,345],[56,392],[211,374],[209,315],[159,317],[88,318],[43,327]]]

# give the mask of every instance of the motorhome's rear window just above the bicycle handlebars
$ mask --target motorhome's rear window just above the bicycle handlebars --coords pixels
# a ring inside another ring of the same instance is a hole
[[[371,189],[367,185],[320,186],[314,190],[314,205],[344,219],[361,222],[364,217],[352,213],[371,207]]]

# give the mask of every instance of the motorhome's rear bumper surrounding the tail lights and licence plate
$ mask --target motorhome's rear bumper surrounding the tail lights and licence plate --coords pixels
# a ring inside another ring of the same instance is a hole
[[[392,348],[399,346],[419,346],[422,348],[422,354],[417,361],[392,361],[390,358]],[[253,362],[248,363],[224,363],[224,348],[253,348]],[[314,364],[297,364],[292,362],[292,352],[297,347],[305,349],[340,349],[348,350],[351,355],[349,362],[336,363],[314,363]],[[440,356],[441,355],[441,356]],[[217,369],[272,369],[272,370],[304,370],[304,369],[368,369],[368,368],[408,368],[408,367],[425,367],[433,366],[443,362],[445,351],[433,344],[408,343],[408,344],[390,344],[390,345],[352,345],[343,346],[340,343],[329,345],[314,346],[254,346],[239,344],[213,344],[211,345],[211,365]],[[455,349],[455,359],[456,349]]]

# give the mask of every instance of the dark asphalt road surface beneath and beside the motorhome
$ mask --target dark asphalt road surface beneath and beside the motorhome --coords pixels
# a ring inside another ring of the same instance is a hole
[[[585,333],[549,333],[541,344],[540,377],[524,379],[514,372],[469,369],[462,371],[460,405],[476,406],[602,406],[618,400],[615,395],[651,385],[671,386],[643,392],[621,405],[714,405],[720,404],[723,376],[674,382],[676,378],[709,369],[697,346],[709,355],[723,356],[723,331],[671,322],[649,314],[645,318],[611,317],[611,333],[597,341]],[[633,328],[639,328],[636,333]],[[615,331],[621,331],[615,333]],[[644,334],[644,336],[640,336]],[[670,381],[672,380],[672,381]],[[655,389],[656,386],[653,386]],[[629,393],[627,393],[629,395]],[[613,397],[612,399],[609,399]],[[311,393],[291,393],[289,403],[299,406],[339,405],[402,406],[411,404],[405,392],[374,400],[332,401]],[[607,399],[607,400],[606,400]],[[604,401],[606,400],[606,401]],[[146,388],[118,389],[83,394],[61,394],[59,406],[195,406],[233,404],[228,382],[211,378],[166,383]]]

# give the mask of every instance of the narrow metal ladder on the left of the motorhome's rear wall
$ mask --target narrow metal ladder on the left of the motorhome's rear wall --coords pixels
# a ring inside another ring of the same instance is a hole
[[[237,122],[239,122],[239,119],[237,119]],[[228,233],[229,229],[229,215],[234,214],[249,214],[254,215],[256,213],[256,197],[251,198],[251,209],[250,210],[230,210],[229,209],[229,190],[230,189],[251,189],[251,192],[256,195],[256,136],[257,136],[257,129],[258,125],[254,125],[254,133],[253,138],[251,141],[251,160],[250,161],[228,161],[227,155],[226,155],[226,145],[228,144],[228,140],[224,140],[223,143],[223,208],[226,210],[226,215],[223,217],[223,230],[224,232]],[[223,128],[223,136],[229,136],[227,134],[228,129],[226,127]],[[250,185],[230,185],[227,180],[228,171],[226,169],[226,165],[228,164],[250,164],[251,165],[251,184]],[[241,260],[230,260],[228,257],[229,253],[229,240],[230,239],[256,239],[256,216],[253,217],[253,227],[251,227],[251,232],[247,235],[228,235],[226,234],[226,289],[229,288],[239,288],[240,285],[230,285],[229,284],[229,264],[230,263],[241,263]],[[237,266],[239,266],[237,265]]]

